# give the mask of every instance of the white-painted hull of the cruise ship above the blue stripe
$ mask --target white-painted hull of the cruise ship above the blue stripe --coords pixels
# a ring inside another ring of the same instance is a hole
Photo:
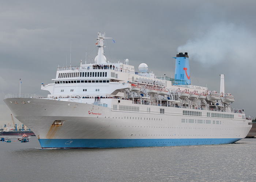
[[[117,104],[118,99],[111,100],[113,104]],[[26,104],[21,104],[22,101]],[[158,106],[132,103],[126,104],[139,107],[139,112],[48,99],[9,98],[4,102],[13,115],[37,135],[43,148],[48,147],[45,146],[44,139],[65,139],[66,141],[71,139],[238,140],[246,137],[251,129],[251,125],[235,113],[229,113],[234,114],[234,119],[227,119],[206,117],[207,111],[204,110],[175,107],[161,107],[165,109],[165,114],[153,114],[159,112]],[[121,100],[120,104],[122,102],[124,101]],[[151,107],[152,113],[147,113],[147,107]],[[182,115],[183,110],[200,111],[202,116]],[[211,124],[182,123],[182,119],[211,120]],[[53,123],[56,120],[63,121],[63,124],[54,126]],[[213,120],[221,120],[221,124],[213,124]],[[203,145],[203,143],[195,145]],[[152,144],[152,146],[157,145]],[[72,147],[72,145],[64,145],[64,147]]]

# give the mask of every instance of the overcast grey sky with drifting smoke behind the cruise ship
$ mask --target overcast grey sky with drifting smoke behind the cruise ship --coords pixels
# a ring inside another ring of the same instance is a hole
[[[256,117],[255,0],[55,0],[1,1],[0,125],[10,123],[5,95],[46,97],[58,66],[78,66],[97,55],[97,32],[106,32],[110,62],[146,63],[158,76],[174,78],[178,52],[188,52],[191,82],[235,97],[233,108]],[[87,57],[86,57],[87,56]],[[19,121],[15,119],[15,123]]]

